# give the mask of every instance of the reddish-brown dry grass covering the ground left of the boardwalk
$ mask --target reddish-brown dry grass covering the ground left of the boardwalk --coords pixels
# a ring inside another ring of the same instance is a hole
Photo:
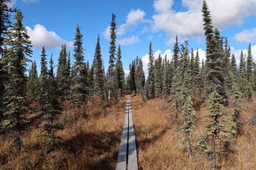
[[[68,124],[57,131],[59,147],[44,155],[44,142],[38,137],[39,114],[27,115],[32,121],[22,136],[23,150],[9,153],[11,141],[0,139],[0,169],[114,169],[121,138],[126,99],[105,107],[98,99],[88,104],[87,116],[75,115],[64,103]]]

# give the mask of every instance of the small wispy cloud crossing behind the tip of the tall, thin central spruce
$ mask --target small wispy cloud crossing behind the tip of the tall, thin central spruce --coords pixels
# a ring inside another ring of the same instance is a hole
[[[139,22],[144,22],[145,15],[146,13],[141,9],[131,9],[129,14],[127,15],[126,22],[118,26],[117,36],[124,35],[131,25],[136,25]],[[104,37],[106,40],[110,39],[110,25],[105,29]]]

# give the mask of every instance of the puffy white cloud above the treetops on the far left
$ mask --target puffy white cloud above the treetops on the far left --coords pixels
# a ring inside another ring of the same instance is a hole
[[[30,27],[26,29],[35,48],[42,48],[42,46],[46,46],[47,49],[60,48],[63,44],[67,44],[68,47],[73,46],[73,42],[61,39],[55,32],[48,31],[44,25],[36,24],[34,29]]]

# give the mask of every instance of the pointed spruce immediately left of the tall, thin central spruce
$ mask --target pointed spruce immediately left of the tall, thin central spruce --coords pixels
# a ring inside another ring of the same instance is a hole
[[[100,36],[97,37],[97,44],[94,53],[95,63],[95,84],[94,91],[98,96],[101,97],[102,100],[105,99],[105,75],[104,68],[102,65],[102,57],[101,57],[101,46],[100,46]]]

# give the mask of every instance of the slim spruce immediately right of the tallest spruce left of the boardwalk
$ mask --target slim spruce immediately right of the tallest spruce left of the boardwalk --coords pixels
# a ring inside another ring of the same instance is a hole
[[[118,90],[122,93],[125,86],[125,71],[123,71],[123,63],[121,59],[122,52],[121,46],[119,45],[117,50],[117,63],[115,64],[115,72],[117,74]]]

